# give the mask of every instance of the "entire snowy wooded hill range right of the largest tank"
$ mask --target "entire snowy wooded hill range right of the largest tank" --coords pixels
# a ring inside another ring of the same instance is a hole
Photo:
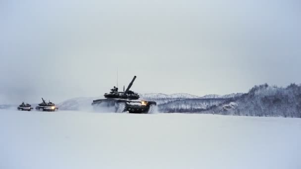
[[[255,85],[248,93],[197,98],[151,98],[164,113],[209,113],[237,116],[301,118],[301,85],[287,87]]]

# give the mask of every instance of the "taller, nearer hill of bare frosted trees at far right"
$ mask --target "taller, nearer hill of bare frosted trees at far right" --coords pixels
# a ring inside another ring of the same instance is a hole
[[[223,115],[295,117],[301,118],[301,85],[290,84],[286,88],[255,85],[246,94],[236,99],[229,99],[237,106],[225,109],[227,104],[212,107],[206,113],[214,111]]]

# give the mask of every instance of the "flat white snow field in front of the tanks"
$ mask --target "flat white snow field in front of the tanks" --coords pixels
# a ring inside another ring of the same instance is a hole
[[[0,110],[0,169],[301,169],[301,119]]]

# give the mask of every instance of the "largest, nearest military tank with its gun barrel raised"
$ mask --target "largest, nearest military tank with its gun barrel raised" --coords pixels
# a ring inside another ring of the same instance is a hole
[[[104,93],[105,99],[93,100],[94,110],[112,108],[110,110],[116,113],[153,113],[157,105],[156,102],[139,100],[139,94],[130,90],[136,78],[134,76],[125,91],[123,88],[123,92],[119,92],[118,88],[114,87],[111,92]]]

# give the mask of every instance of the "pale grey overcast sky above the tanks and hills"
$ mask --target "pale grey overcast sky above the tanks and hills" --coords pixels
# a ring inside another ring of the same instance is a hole
[[[0,0],[0,104],[301,83],[299,0]]]

